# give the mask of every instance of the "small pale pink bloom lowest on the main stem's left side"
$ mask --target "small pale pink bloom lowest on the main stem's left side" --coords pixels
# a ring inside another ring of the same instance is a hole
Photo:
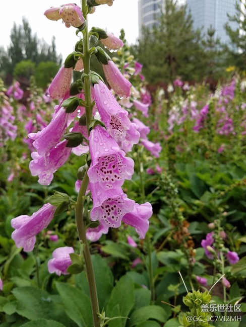
[[[61,274],[68,275],[67,269],[70,265],[72,265],[70,253],[74,253],[74,249],[72,247],[55,249],[52,253],[53,258],[48,261],[49,273],[55,273],[58,276]]]

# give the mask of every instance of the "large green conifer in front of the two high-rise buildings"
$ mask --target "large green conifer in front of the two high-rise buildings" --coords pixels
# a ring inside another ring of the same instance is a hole
[[[173,81],[177,76],[198,80],[204,74],[200,32],[193,31],[191,15],[176,0],[166,0],[158,26],[144,28],[135,55],[150,83]]]

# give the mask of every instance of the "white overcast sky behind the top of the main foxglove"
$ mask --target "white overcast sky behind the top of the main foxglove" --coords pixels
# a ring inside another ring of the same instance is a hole
[[[32,32],[37,33],[38,38],[44,38],[50,44],[52,36],[55,36],[57,53],[61,53],[65,59],[78,41],[76,29],[66,28],[61,20],[50,21],[43,15],[46,9],[65,3],[64,0],[1,1],[0,45],[10,44],[10,31],[14,22],[19,25],[22,23],[22,17],[26,17]],[[77,5],[80,5],[80,0],[77,0]],[[97,6],[96,12],[88,15],[88,23],[89,27],[107,29],[116,36],[119,36],[120,29],[124,28],[128,42],[135,43],[138,38],[138,0],[115,0],[111,7]]]

